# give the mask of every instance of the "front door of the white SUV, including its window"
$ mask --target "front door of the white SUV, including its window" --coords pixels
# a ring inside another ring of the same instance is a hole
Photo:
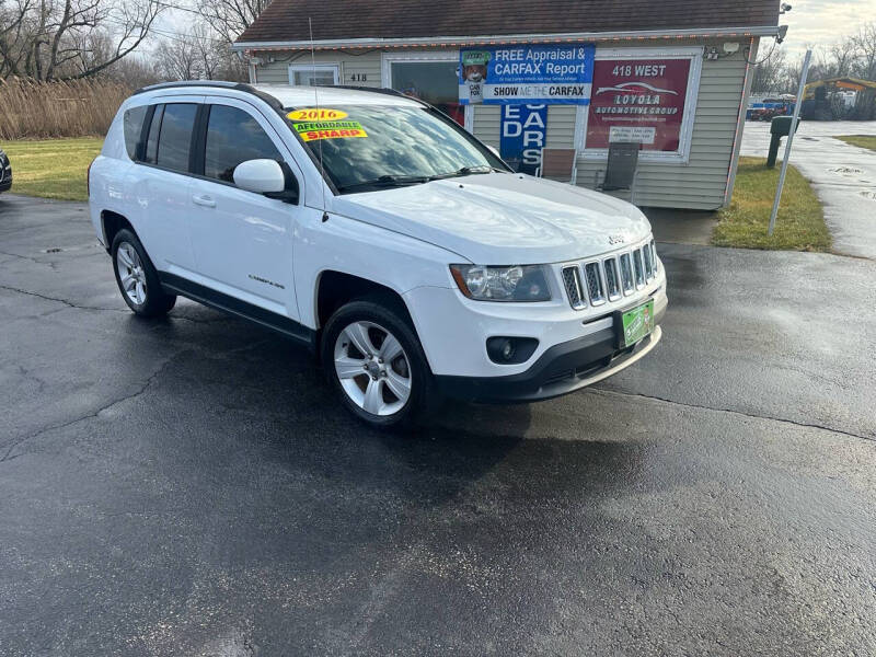
[[[233,178],[241,162],[270,159],[291,165],[291,154],[249,103],[208,97],[203,113],[203,171],[192,181],[188,220],[198,273],[222,293],[297,320],[292,238],[298,206],[241,189]]]

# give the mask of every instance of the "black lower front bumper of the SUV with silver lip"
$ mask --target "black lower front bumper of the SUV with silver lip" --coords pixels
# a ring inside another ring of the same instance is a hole
[[[546,400],[601,381],[630,367],[650,351],[662,336],[659,323],[666,306],[655,313],[654,332],[632,347],[618,348],[618,335],[609,325],[545,350],[523,372],[505,377],[436,376],[447,396],[481,403],[514,403]]]

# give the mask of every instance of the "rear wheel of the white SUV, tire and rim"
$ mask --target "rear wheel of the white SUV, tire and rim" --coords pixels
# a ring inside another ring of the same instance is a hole
[[[176,297],[164,293],[158,272],[134,232],[118,231],[111,253],[116,283],[128,308],[147,318],[166,314],[173,308]]]

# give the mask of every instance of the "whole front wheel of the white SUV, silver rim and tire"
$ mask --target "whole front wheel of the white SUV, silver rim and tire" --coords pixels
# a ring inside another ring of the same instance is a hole
[[[344,405],[371,426],[408,424],[430,399],[423,347],[390,303],[361,300],[338,309],[325,325],[322,357]]]

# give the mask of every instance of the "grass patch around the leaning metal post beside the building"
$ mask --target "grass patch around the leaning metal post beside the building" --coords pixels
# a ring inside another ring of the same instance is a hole
[[[809,182],[788,165],[782,205],[773,237],[766,234],[781,164],[766,169],[763,158],[739,158],[739,172],[729,208],[718,212],[712,233],[716,246],[830,251],[830,232],[821,203]]]

